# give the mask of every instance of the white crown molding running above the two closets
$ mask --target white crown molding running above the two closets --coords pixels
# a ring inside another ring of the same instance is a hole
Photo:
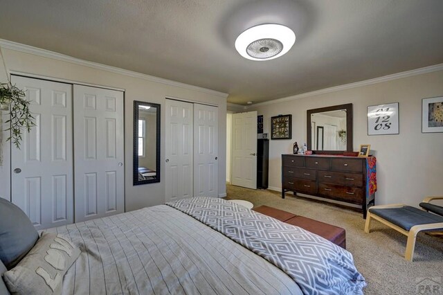
[[[172,80],[168,80],[168,79],[163,79],[163,78],[159,78],[159,77],[154,77],[153,75],[146,75],[143,73],[137,73],[134,71],[120,69],[120,68],[117,68],[116,66],[107,66],[106,64],[99,64],[98,62],[89,62],[87,60],[80,60],[80,58],[72,57],[69,55],[64,55],[62,53],[56,53],[54,51],[48,51],[46,49],[37,48],[34,46],[29,46],[29,45],[20,44],[17,42],[8,41],[5,39],[0,39],[0,46],[2,48],[7,48],[7,49],[14,50],[14,51],[20,51],[23,53],[29,53],[29,54],[33,54],[33,55],[51,58],[53,60],[60,60],[62,62],[70,62],[71,64],[78,64],[80,66],[88,66],[89,68],[92,68],[92,69],[98,69],[98,70],[107,71],[110,73],[117,73],[120,75],[126,75],[126,76],[129,76],[132,78],[140,78],[143,80],[166,84],[166,85],[173,86],[173,87],[180,87],[183,89],[190,89],[190,90],[194,90],[194,91],[204,92],[204,93],[208,93],[208,94],[211,94],[214,96],[219,96],[221,98],[228,97],[228,93],[215,91],[215,90],[207,89],[207,88],[203,88],[203,87],[198,87],[198,86],[194,86],[194,85],[190,85],[190,84],[185,84],[185,83],[181,83],[181,82],[176,82],[176,81],[172,81]]]

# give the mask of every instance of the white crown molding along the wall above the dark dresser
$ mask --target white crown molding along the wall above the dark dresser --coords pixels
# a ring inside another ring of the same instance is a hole
[[[286,101],[296,100],[296,99],[300,99],[300,98],[307,98],[309,96],[318,96],[318,95],[324,94],[324,93],[330,93],[330,92],[341,91],[341,90],[345,90],[345,89],[362,87],[362,86],[366,86],[366,85],[387,82],[390,80],[397,80],[397,79],[401,79],[401,78],[406,78],[406,77],[410,77],[413,75],[422,75],[425,73],[433,73],[436,71],[443,71],[443,64],[435,64],[433,66],[426,66],[424,68],[415,69],[415,70],[411,70],[411,71],[395,73],[392,75],[385,75],[383,77],[374,78],[374,79],[370,79],[370,80],[364,80],[364,81],[360,81],[360,82],[354,82],[354,83],[350,83],[350,84],[329,87],[329,88],[311,91],[311,92],[307,92],[307,93],[301,93],[301,94],[297,94],[295,96],[288,96],[285,98],[278,98],[275,100],[259,102],[257,104],[251,105],[251,106],[246,106],[245,108],[248,109],[250,107],[260,107],[262,105],[272,105],[272,104],[278,103],[278,102],[286,102]]]

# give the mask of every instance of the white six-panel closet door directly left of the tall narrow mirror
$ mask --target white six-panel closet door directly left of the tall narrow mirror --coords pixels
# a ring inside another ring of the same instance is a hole
[[[75,222],[125,211],[123,92],[74,85]]]

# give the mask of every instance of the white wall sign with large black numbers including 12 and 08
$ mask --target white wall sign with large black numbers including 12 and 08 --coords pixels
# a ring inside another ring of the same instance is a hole
[[[399,103],[368,107],[368,135],[399,134]]]

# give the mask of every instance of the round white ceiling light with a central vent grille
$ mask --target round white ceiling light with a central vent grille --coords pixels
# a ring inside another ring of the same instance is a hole
[[[273,60],[287,53],[296,42],[296,34],[287,26],[262,24],[241,33],[235,49],[248,60]]]

